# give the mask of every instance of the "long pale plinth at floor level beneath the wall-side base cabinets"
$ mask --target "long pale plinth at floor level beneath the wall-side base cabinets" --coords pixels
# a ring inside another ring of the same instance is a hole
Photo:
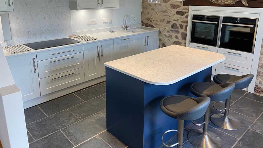
[[[102,77],[99,77],[99,78],[96,78],[96,79],[93,79],[93,80],[90,80],[90,81],[87,81],[87,82],[84,82],[84,83],[80,83],[80,84],[71,86],[71,87],[66,88],[66,89],[62,89],[62,90],[53,92],[51,94],[46,94],[44,96],[40,96],[38,98],[35,98],[35,99],[32,99],[32,100],[23,102],[24,109],[27,109],[29,107],[33,107],[35,105],[47,102],[47,101],[52,100],[52,99],[56,99],[56,98],[58,98],[60,96],[64,96],[66,94],[70,94],[70,93],[78,91],[80,89],[84,89],[86,87],[89,87],[89,86],[92,86],[92,85],[104,82],[105,80],[106,80],[106,77],[102,76]]]

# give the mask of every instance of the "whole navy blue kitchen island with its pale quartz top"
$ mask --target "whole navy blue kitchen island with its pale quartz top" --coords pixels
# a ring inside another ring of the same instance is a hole
[[[105,63],[107,130],[130,148],[159,147],[163,132],[177,128],[160,100],[193,96],[190,85],[210,82],[212,66],[223,60],[222,54],[172,45]]]

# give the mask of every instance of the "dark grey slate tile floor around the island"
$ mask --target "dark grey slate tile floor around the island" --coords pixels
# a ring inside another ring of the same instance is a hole
[[[26,109],[30,148],[127,148],[106,131],[105,89],[105,83],[101,83]],[[224,104],[216,104],[216,107],[222,109]],[[230,115],[240,120],[240,129],[228,131],[209,123],[209,130],[222,139],[222,148],[262,148],[263,97],[235,90],[230,109]],[[210,112],[210,115],[220,113],[213,108]],[[202,127],[192,123],[185,127],[184,148],[194,147],[187,139],[191,130],[202,130]],[[177,135],[167,144],[176,141]]]

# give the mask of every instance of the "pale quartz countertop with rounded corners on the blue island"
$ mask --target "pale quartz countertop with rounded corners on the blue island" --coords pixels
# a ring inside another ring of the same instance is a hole
[[[146,83],[169,85],[224,60],[223,54],[172,45],[104,65]]]

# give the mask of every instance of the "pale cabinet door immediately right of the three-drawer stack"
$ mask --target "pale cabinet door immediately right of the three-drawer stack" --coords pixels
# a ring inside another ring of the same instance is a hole
[[[84,44],[85,81],[100,77],[99,42]]]

